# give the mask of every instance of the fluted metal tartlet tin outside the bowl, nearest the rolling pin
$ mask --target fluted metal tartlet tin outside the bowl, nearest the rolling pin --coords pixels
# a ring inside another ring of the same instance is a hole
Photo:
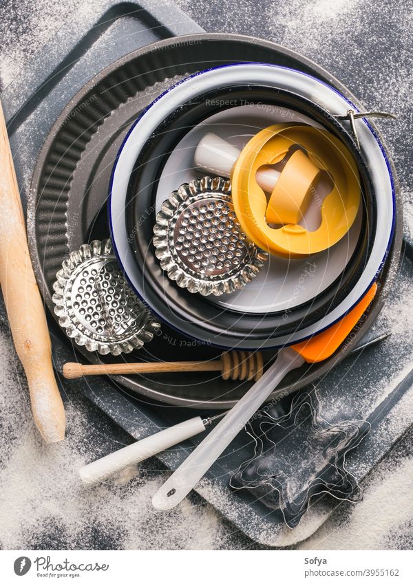
[[[130,353],[160,328],[129,288],[109,239],[72,252],[57,272],[53,288],[59,324],[88,351]]]

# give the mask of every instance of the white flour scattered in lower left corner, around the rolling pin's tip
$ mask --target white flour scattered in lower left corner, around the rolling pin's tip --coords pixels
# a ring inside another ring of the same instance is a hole
[[[21,367],[3,328],[0,363],[2,549],[89,549],[96,541],[103,549],[214,549],[225,536],[231,539],[211,506],[186,501],[168,515],[153,509],[151,496],[165,480],[160,466],[141,465],[127,485],[84,488],[78,468],[99,457],[102,444],[121,446],[110,446],[109,427],[103,434],[81,400],[65,396],[66,440],[46,445],[34,428]]]

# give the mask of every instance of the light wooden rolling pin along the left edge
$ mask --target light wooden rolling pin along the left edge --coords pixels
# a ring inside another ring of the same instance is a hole
[[[65,410],[52,367],[50,335],[37,288],[16,172],[0,102],[0,284],[34,422],[46,442],[65,437]]]

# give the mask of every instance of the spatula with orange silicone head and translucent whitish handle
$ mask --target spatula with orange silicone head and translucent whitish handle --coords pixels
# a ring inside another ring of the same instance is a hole
[[[158,492],[153,495],[152,503],[156,509],[169,510],[178,505],[189,491],[198,483],[209,467],[220,457],[226,446],[242,430],[246,422],[262,406],[265,400],[279,385],[284,376],[306,361],[316,363],[330,357],[346,340],[348,334],[359,322],[368,308],[377,285],[373,284],[366,296],[332,327],[302,343],[281,349],[275,363],[265,372],[251,389],[226,414],[187,459],[169,477]]]

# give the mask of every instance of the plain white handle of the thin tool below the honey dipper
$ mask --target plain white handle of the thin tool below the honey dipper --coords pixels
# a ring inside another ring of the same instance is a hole
[[[205,429],[202,418],[198,415],[191,420],[185,420],[180,424],[171,426],[139,440],[134,444],[129,444],[125,448],[120,448],[117,452],[95,460],[79,469],[79,474],[83,484],[92,485],[111,477],[124,468],[138,464],[158,452],[162,452],[171,446],[175,446],[188,438],[203,432]]]

